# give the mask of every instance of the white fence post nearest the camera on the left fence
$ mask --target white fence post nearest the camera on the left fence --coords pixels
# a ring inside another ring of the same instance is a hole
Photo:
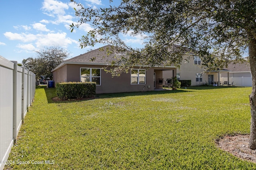
[[[12,61],[14,63],[14,70],[13,70],[13,119],[12,119],[12,137],[14,143],[17,142],[17,61]]]

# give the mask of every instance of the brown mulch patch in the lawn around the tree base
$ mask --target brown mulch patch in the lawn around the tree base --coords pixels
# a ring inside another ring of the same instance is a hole
[[[250,135],[225,136],[216,140],[220,149],[230,152],[234,156],[243,160],[256,163],[256,150],[248,147]]]

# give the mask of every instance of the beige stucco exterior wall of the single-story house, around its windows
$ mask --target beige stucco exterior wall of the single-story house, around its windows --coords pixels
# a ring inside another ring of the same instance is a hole
[[[54,71],[54,81],[80,82],[80,68],[102,68],[98,65],[66,64]],[[110,69],[111,67],[107,68]],[[146,71],[146,84],[131,84],[131,73],[122,73],[119,77],[112,77],[110,73],[101,70],[101,85],[96,86],[96,93],[118,93],[118,92],[143,92],[154,90],[154,72],[157,77],[162,77],[162,70],[176,68],[150,68]],[[57,73],[59,78],[56,78]],[[62,76],[60,76],[63,74]],[[61,77],[61,78],[60,78]]]

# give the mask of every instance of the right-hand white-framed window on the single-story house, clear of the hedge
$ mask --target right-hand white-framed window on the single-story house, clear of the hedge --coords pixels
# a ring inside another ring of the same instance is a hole
[[[131,70],[131,84],[146,84],[146,70],[132,69]]]

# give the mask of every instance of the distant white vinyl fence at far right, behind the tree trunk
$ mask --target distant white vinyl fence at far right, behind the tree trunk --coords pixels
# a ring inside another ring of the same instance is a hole
[[[221,77],[221,82],[228,81],[227,77]],[[252,87],[252,78],[251,77],[230,77],[229,82],[234,86],[243,86],[243,87]]]

